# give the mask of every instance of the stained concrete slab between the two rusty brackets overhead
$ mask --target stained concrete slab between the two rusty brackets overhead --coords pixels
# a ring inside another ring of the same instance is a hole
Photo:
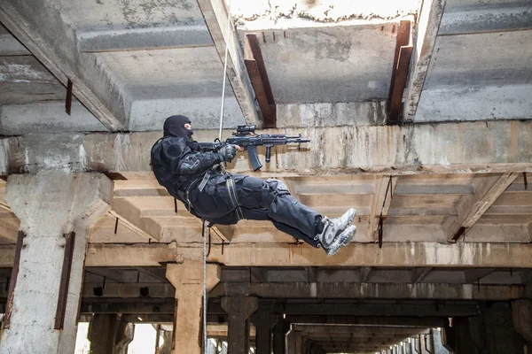
[[[387,99],[394,23],[256,31],[277,104]],[[241,43],[246,29],[239,29]]]

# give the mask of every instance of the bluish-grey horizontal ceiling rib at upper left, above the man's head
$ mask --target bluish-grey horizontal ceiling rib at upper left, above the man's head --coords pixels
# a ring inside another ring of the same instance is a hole
[[[82,53],[121,50],[162,50],[213,46],[205,25],[122,28],[76,32]]]

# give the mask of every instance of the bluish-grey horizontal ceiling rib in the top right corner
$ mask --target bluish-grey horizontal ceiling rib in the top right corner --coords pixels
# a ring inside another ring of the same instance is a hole
[[[526,2],[450,2],[443,12],[438,35],[505,32],[532,27],[532,10]]]

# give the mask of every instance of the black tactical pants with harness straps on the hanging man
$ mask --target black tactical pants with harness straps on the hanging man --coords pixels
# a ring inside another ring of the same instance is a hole
[[[318,247],[315,238],[324,228],[321,215],[291,196],[283,182],[241,174],[232,177],[244,219],[270,220],[280,231]],[[214,173],[204,189],[200,191],[196,186],[190,192],[193,212],[213,224],[233,225],[239,221],[226,178]]]

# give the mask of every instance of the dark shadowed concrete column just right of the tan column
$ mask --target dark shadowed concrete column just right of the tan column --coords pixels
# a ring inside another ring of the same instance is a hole
[[[258,299],[251,296],[235,295],[222,298],[223,310],[229,315],[228,354],[249,353],[249,318],[258,304]]]

